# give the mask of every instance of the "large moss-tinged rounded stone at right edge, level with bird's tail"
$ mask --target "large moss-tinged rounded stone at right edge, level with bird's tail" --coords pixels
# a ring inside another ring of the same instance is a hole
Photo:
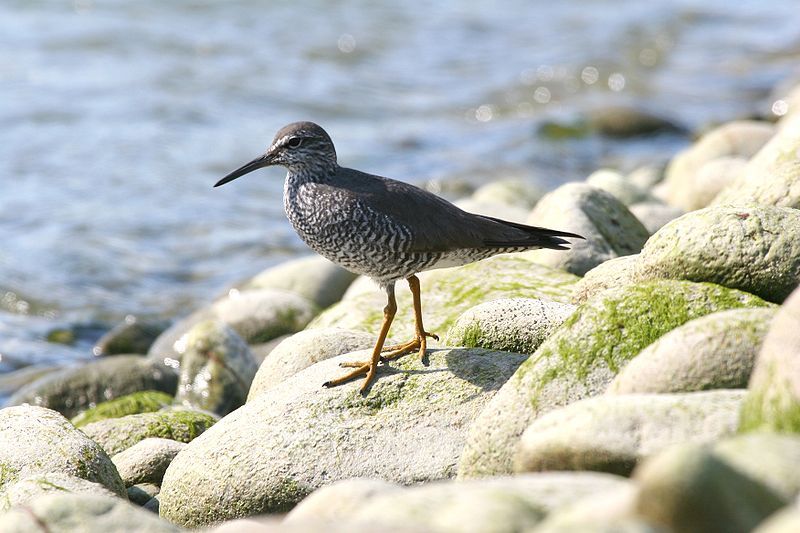
[[[800,210],[708,207],[673,220],[639,254],[634,278],[709,281],[782,302],[800,283]]]

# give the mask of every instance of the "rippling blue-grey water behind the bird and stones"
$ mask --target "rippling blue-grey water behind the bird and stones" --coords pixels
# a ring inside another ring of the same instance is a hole
[[[796,0],[5,0],[0,372],[88,355],[46,342],[54,326],[186,314],[304,253],[281,170],[211,188],[285,123],[317,121],[343,164],[411,182],[552,187],[686,140],[553,142],[541,121],[607,104],[692,129],[749,116],[798,51]]]

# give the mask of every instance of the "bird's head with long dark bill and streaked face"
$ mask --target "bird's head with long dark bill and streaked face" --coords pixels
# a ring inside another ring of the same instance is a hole
[[[324,173],[336,167],[336,149],[330,136],[313,122],[293,122],[275,134],[263,155],[237,168],[214,187],[263,167],[280,165],[294,172]]]

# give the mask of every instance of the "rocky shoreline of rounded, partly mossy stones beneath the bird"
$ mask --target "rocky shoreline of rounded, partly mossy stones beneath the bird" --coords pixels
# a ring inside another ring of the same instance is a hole
[[[420,275],[442,340],[366,396],[321,384],[365,357],[384,296],[320,257],[21,377],[0,531],[800,530],[800,89],[786,101],[664,172],[459,202],[587,238]]]

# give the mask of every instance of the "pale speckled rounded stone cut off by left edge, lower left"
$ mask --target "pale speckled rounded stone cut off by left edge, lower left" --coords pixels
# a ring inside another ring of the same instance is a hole
[[[0,492],[20,479],[51,473],[94,481],[125,494],[108,455],[62,415],[34,406],[0,409]]]

